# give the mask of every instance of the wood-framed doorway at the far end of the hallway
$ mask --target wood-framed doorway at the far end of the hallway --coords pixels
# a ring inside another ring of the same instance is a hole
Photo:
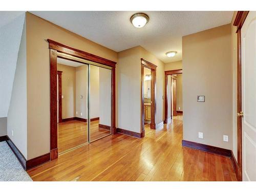
[[[174,117],[183,115],[182,69],[165,71],[164,88],[164,123],[169,123]]]

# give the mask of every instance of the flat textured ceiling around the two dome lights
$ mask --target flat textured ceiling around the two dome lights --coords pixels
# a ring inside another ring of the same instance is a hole
[[[229,24],[232,11],[144,11],[143,28],[130,23],[134,11],[31,11],[114,51],[142,46],[163,62],[182,60],[182,36]],[[173,58],[167,51],[177,51]]]

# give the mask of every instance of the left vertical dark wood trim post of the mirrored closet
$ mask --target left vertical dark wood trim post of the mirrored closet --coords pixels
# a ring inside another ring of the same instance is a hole
[[[50,151],[58,148],[57,143],[57,51],[50,49]],[[51,159],[52,160],[52,159]]]

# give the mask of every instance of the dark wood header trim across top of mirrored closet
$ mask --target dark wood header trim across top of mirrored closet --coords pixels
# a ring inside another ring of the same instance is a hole
[[[102,65],[106,65],[106,66],[110,66],[110,67],[115,67],[115,65],[116,65],[115,61],[105,59],[105,58],[99,57],[97,55],[87,53],[85,51],[81,51],[76,48],[64,45],[64,44],[60,44],[59,42],[56,42],[51,39],[47,39],[47,41],[49,42],[49,48],[52,50],[56,50],[61,53],[67,53],[67,54],[73,55],[75,57],[90,60],[90,61],[97,62]]]

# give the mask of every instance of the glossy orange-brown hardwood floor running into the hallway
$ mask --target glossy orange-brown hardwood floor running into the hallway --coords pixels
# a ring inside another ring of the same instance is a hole
[[[105,137],[28,171],[34,181],[236,181],[231,160],[181,146],[182,116],[145,137]]]

